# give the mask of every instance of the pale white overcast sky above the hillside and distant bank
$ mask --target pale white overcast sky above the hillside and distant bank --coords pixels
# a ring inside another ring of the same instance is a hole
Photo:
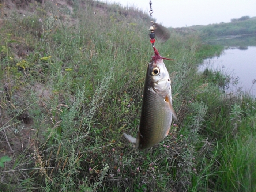
[[[149,0],[100,0],[149,11]],[[256,0],[151,0],[153,17],[166,27],[185,27],[230,22],[256,16]]]

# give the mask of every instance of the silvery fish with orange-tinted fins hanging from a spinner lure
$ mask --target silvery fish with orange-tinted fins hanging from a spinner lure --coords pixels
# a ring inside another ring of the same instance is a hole
[[[153,45],[155,55],[147,65],[142,111],[137,137],[123,133],[138,149],[161,142],[170,131],[172,117],[178,121],[172,106],[171,80],[163,59]],[[167,59],[172,60],[172,59]]]

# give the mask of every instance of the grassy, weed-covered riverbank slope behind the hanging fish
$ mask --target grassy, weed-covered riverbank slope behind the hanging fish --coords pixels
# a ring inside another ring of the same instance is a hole
[[[2,191],[255,191],[255,100],[220,91],[226,75],[197,72],[221,46],[175,31],[155,44],[174,59],[180,123],[138,151],[123,132],[138,131],[148,15],[89,0],[22,8],[1,7]]]

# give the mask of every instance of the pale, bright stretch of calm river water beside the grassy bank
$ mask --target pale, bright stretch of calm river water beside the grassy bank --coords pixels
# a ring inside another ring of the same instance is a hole
[[[256,97],[256,47],[226,49],[219,57],[205,59],[199,71],[207,68],[229,74],[227,84],[221,87],[225,92],[244,92]]]

